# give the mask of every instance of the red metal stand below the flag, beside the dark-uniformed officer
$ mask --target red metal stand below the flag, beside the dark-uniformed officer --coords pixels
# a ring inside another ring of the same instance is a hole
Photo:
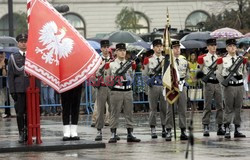
[[[35,77],[30,76],[30,86],[27,88],[27,128],[28,144],[33,144],[33,137],[36,137],[36,144],[41,144],[40,130],[40,95],[39,88],[35,86]]]

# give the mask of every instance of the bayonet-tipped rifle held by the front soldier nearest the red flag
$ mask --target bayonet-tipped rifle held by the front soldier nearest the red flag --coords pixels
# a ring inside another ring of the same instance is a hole
[[[141,54],[142,52],[144,51],[144,48],[140,50],[140,52],[138,52],[137,55],[135,55],[132,59],[126,61],[120,68],[118,68],[114,74],[114,80],[113,80],[113,84],[112,85],[109,85],[108,87],[110,89],[113,89],[114,86],[118,83],[118,79],[119,77],[121,76],[125,76],[125,73],[128,71],[128,69],[132,66],[132,61],[135,61]]]

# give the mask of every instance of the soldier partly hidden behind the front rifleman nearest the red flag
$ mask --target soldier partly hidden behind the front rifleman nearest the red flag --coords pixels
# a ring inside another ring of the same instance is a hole
[[[97,136],[95,141],[102,140],[102,128],[104,126],[104,110],[106,108],[106,117],[109,119],[109,110],[110,110],[110,89],[105,84],[105,65],[109,63],[111,57],[109,55],[108,48],[110,46],[109,40],[102,40],[101,41],[101,51],[102,51],[102,63],[99,69],[96,72],[96,77],[98,79],[98,83],[96,84],[97,88],[97,95],[96,95],[96,107],[97,107],[97,116],[96,116],[96,125],[97,128]],[[106,105],[106,103],[108,105]],[[106,118],[107,119],[107,118]],[[105,123],[106,124],[106,123]],[[120,138],[118,138],[120,139]]]

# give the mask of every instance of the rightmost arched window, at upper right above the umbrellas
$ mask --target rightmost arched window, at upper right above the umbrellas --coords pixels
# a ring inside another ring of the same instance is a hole
[[[185,27],[192,31],[202,31],[204,23],[210,18],[209,14],[204,11],[194,11],[186,19]]]

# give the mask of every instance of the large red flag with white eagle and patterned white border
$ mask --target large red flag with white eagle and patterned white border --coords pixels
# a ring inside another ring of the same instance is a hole
[[[27,2],[25,71],[59,93],[83,83],[99,67],[99,54],[46,0]]]

